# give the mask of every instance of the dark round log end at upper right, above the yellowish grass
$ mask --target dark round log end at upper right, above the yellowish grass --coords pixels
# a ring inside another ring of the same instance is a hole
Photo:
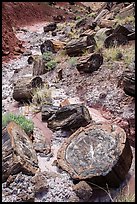
[[[112,46],[125,45],[127,43],[128,43],[127,37],[125,35],[122,35],[121,33],[112,33],[104,41],[104,45],[106,48]]]

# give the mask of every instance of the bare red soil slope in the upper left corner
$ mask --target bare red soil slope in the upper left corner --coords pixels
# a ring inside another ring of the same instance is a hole
[[[58,6],[72,7],[68,2],[58,2]],[[80,3],[77,3],[82,5]],[[52,21],[53,16],[71,17],[64,10],[49,6],[47,2],[2,2],[2,61],[14,58],[14,48],[22,47],[16,38],[13,27],[31,25],[32,23]]]

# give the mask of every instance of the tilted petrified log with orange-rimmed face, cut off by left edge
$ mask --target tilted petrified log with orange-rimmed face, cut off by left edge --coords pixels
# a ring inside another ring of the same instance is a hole
[[[2,130],[2,182],[20,171],[35,175],[38,160],[28,135],[15,122],[10,122]]]

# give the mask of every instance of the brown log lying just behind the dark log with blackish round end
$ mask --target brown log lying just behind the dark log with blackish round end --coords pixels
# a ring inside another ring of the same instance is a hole
[[[66,50],[69,56],[75,57],[75,56],[82,54],[86,50],[87,46],[90,46],[90,45],[96,46],[96,41],[92,35],[80,37],[77,40],[74,39],[70,41],[64,47],[64,49]]]

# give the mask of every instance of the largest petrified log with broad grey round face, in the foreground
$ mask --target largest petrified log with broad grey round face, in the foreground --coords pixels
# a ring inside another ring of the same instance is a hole
[[[79,128],[67,138],[58,151],[57,161],[73,179],[117,187],[128,173],[132,157],[122,128],[96,124]]]

